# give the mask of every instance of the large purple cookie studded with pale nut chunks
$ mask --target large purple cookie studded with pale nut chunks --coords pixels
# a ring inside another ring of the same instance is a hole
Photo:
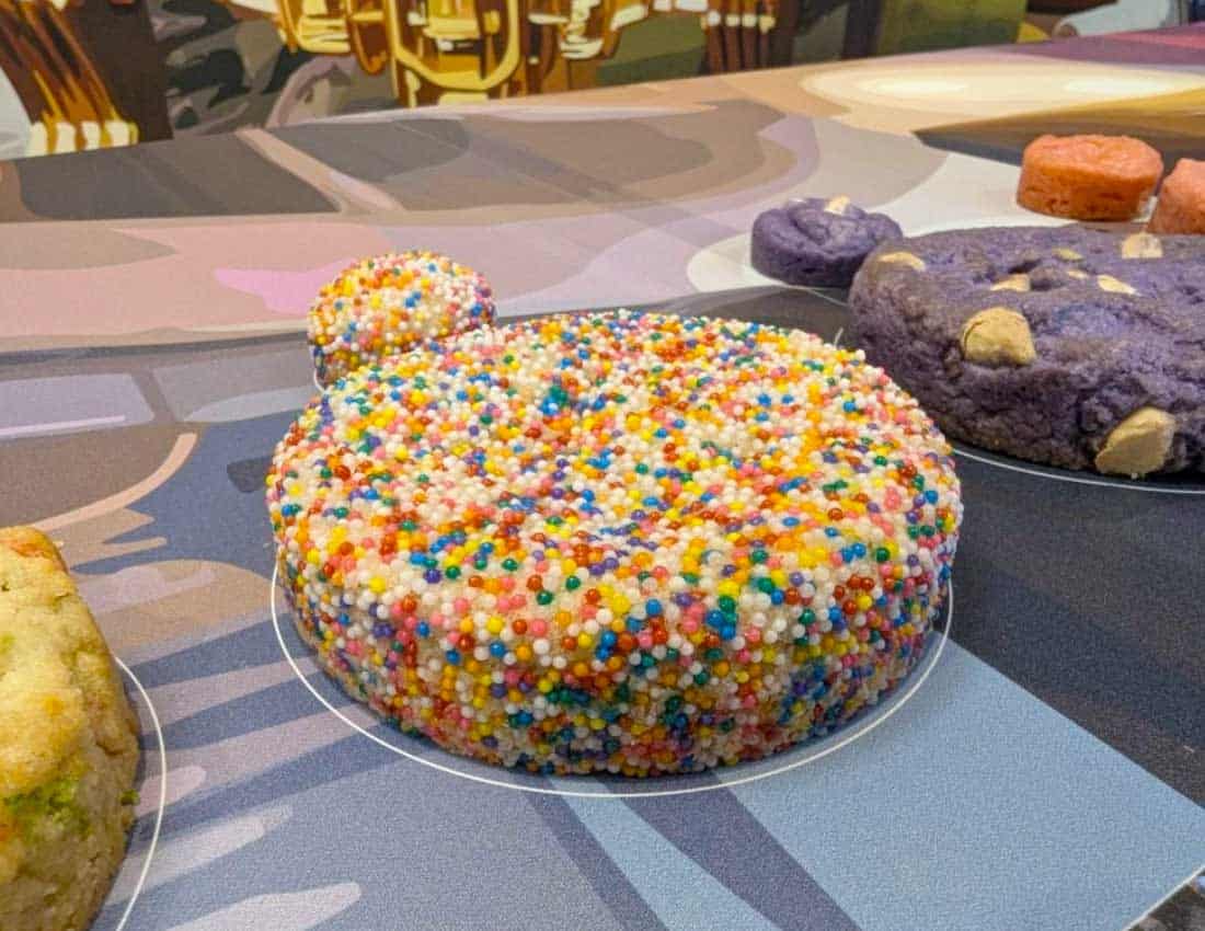
[[[1205,471],[1205,237],[937,232],[874,252],[850,307],[868,359],[951,436],[1069,469]]]

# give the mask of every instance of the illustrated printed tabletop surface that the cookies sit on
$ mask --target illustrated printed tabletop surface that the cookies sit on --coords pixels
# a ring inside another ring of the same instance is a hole
[[[748,266],[759,211],[844,193],[907,232],[1042,222],[1012,202],[1033,135],[1170,160],[1205,151],[1203,108],[1205,30],[1181,29],[0,164],[0,524],[60,543],[145,725],[96,929],[1200,927],[1203,481],[959,447],[956,599],[905,691],[652,782],[492,770],[375,721],[274,595],[261,490],[315,391],[307,302],[348,259],[446,251],[505,317],[664,307],[847,342],[844,294]]]

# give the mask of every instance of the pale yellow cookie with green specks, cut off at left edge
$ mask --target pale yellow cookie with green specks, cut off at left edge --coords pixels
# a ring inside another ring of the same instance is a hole
[[[82,931],[134,820],[137,721],[54,546],[0,529],[0,929]]]

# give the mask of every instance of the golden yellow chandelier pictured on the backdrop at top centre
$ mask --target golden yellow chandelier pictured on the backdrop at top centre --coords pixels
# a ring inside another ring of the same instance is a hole
[[[621,31],[694,14],[712,72],[764,66],[777,0],[275,0],[293,49],[389,69],[400,104],[464,102],[589,87]]]

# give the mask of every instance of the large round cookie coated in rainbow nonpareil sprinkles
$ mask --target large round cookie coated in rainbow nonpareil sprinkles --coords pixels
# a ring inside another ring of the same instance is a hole
[[[305,640],[455,753],[631,776],[828,733],[917,662],[962,515],[950,449],[859,352],[641,313],[366,367],[276,449]]]

